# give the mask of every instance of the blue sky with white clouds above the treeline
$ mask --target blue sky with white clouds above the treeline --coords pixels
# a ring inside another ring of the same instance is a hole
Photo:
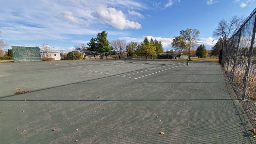
[[[218,21],[248,17],[256,0],[0,0],[1,39],[14,45],[48,43],[72,51],[106,30],[108,40],[142,42],[145,36],[172,49],[180,30],[200,30],[200,44],[211,49]],[[11,42],[9,42],[11,41]],[[20,44],[15,44],[15,43]],[[213,41],[213,45],[217,40]]]

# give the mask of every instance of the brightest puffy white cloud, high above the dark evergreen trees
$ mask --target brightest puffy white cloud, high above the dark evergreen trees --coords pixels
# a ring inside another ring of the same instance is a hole
[[[139,29],[142,28],[138,22],[126,20],[122,11],[116,10],[114,7],[106,7],[101,5],[96,12],[93,13],[102,23],[108,23],[119,29]]]

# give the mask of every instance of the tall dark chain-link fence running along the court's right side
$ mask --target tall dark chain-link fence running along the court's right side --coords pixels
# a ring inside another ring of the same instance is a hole
[[[222,44],[225,70],[252,125],[256,126],[256,8],[235,36]]]

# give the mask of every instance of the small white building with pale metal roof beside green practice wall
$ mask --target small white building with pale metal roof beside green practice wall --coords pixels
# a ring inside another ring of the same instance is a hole
[[[44,46],[40,47],[42,60],[60,60],[60,49],[58,47]]]

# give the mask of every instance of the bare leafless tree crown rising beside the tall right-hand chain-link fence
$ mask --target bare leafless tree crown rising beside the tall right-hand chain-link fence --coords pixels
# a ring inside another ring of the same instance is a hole
[[[244,15],[240,18],[235,15],[228,20],[222,19],[219,21],[217,28],[213,31],[212,36],[216,38],[221,37],[225,44],[230,37],[236,34],[244,20]]]

